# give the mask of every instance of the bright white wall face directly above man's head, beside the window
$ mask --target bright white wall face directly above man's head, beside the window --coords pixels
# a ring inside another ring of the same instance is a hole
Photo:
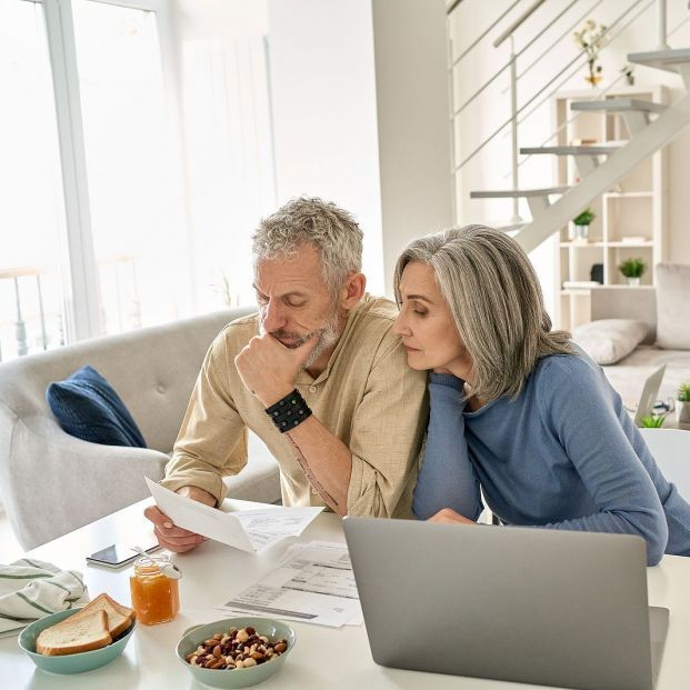
[[[354,214],[383,289],[370,0],[269,0],[277,202],[321,197]]]

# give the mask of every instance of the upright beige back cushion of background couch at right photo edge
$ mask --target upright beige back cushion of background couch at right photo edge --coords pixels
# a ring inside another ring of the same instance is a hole
[[[666,350],[690,350],[690,266],[657,266],[657,346]]]

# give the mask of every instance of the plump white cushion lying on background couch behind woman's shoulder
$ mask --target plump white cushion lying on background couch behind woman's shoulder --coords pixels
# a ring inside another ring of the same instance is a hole
[[[633,319],[601,319],[576,328],[572,339],[598,364],[614,364],[644,340],[647,330]]]

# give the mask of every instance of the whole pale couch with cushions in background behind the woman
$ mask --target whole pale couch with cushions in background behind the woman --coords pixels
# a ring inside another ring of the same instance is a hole
[[[598,349],[594,360],[602,363],[626,404],[638,402],[644,379],[661,364],[667,368],[659,399],[676,398],[680,383],[690,382],[690,266],[660,263],[656,272],[656,288],[593,288],[591,322],[573,331],[573,339],[590,354]],[[610,319],[626,323],[607,323]],[[610,337],[611,328],[618,338]],[[610,361],[606,354],[617,348],[629,353],[603,364]]]

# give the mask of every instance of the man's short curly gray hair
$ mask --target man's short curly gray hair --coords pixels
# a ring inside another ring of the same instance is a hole
[[[254,270],[263,259],[294,256],[300,244],[319,250],[323,281],[336,294],[347,276],[362,269],[363,233],[354,218],[319,198],[292,199],[263,218],[252,236]]]

